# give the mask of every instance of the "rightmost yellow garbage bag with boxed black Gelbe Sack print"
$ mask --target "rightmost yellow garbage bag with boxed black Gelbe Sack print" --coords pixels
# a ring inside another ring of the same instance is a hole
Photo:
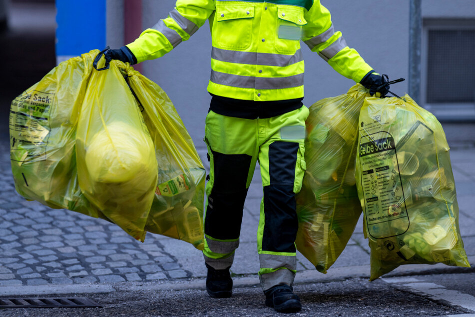
[[[401,264],[470,266],[440,122],[406,95],[366,98],[359,126],[356,183],[371,280]]]

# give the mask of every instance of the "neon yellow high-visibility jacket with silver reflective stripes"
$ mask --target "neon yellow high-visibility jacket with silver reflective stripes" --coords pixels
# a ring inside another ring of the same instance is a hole
[[[302,39],[336,71],[359,82],[372,70],[335,32],[320,0],[177,0],[167,18],[127,47],[137,62],[163,56],[209,19],[208,91],[271,101],[304,96]]]

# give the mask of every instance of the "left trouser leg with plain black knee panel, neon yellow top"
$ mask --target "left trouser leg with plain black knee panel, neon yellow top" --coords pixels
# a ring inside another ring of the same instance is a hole
[[[234,250],[239,246],[247,188],[257,159],[253,120],[242,120],[246,119],[212,111],[206,117],[210,179],[206,184],[203,255],[206,263],[215,269],[229,267],[233,262]]]

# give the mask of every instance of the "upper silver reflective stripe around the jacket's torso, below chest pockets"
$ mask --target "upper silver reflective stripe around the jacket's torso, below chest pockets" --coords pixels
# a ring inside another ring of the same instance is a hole
[[[240,64],[285,67],[303,60],[302,50],[298,49],[293,55],[272,53],[257,53],[249,51],[228,50],[213,47],[211,58]]]

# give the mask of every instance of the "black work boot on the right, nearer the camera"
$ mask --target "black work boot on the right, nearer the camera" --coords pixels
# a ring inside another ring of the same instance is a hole
[[[274,307],[278,312],[297,312],[302,309],[300,298],[292,292],[287,284],[272,286],[264,291],[266,306]]]

